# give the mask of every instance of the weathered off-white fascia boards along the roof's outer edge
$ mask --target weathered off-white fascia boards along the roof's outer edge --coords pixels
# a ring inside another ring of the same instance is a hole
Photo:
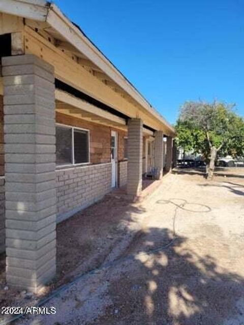
[[[1,0],[0,12],[48,23],[58,34],[62,35],[62,38],[86,56],[150,115],[157,118],[172,135],[175,134],[172,125],[145,100],[128,79],[57,6],[44,0]]]

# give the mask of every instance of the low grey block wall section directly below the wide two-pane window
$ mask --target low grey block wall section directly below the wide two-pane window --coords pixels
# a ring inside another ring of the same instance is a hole
[[[100,200],[111,190],[111,175],[111,163],[57,169],[57,222]]]

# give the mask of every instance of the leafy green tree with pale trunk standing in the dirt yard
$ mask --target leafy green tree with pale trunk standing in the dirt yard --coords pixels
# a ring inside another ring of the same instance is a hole
[[[199,101],[186,102],[180,109],[176,143],[202,154],[209,179],[214,174],[219,153],[244,154],[244,120],[233,111],[233,107],[217,101]]]

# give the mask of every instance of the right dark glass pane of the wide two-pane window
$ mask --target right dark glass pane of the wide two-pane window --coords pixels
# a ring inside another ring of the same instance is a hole
[[[88,132],[74,129],[74,163],[88,163]]]

